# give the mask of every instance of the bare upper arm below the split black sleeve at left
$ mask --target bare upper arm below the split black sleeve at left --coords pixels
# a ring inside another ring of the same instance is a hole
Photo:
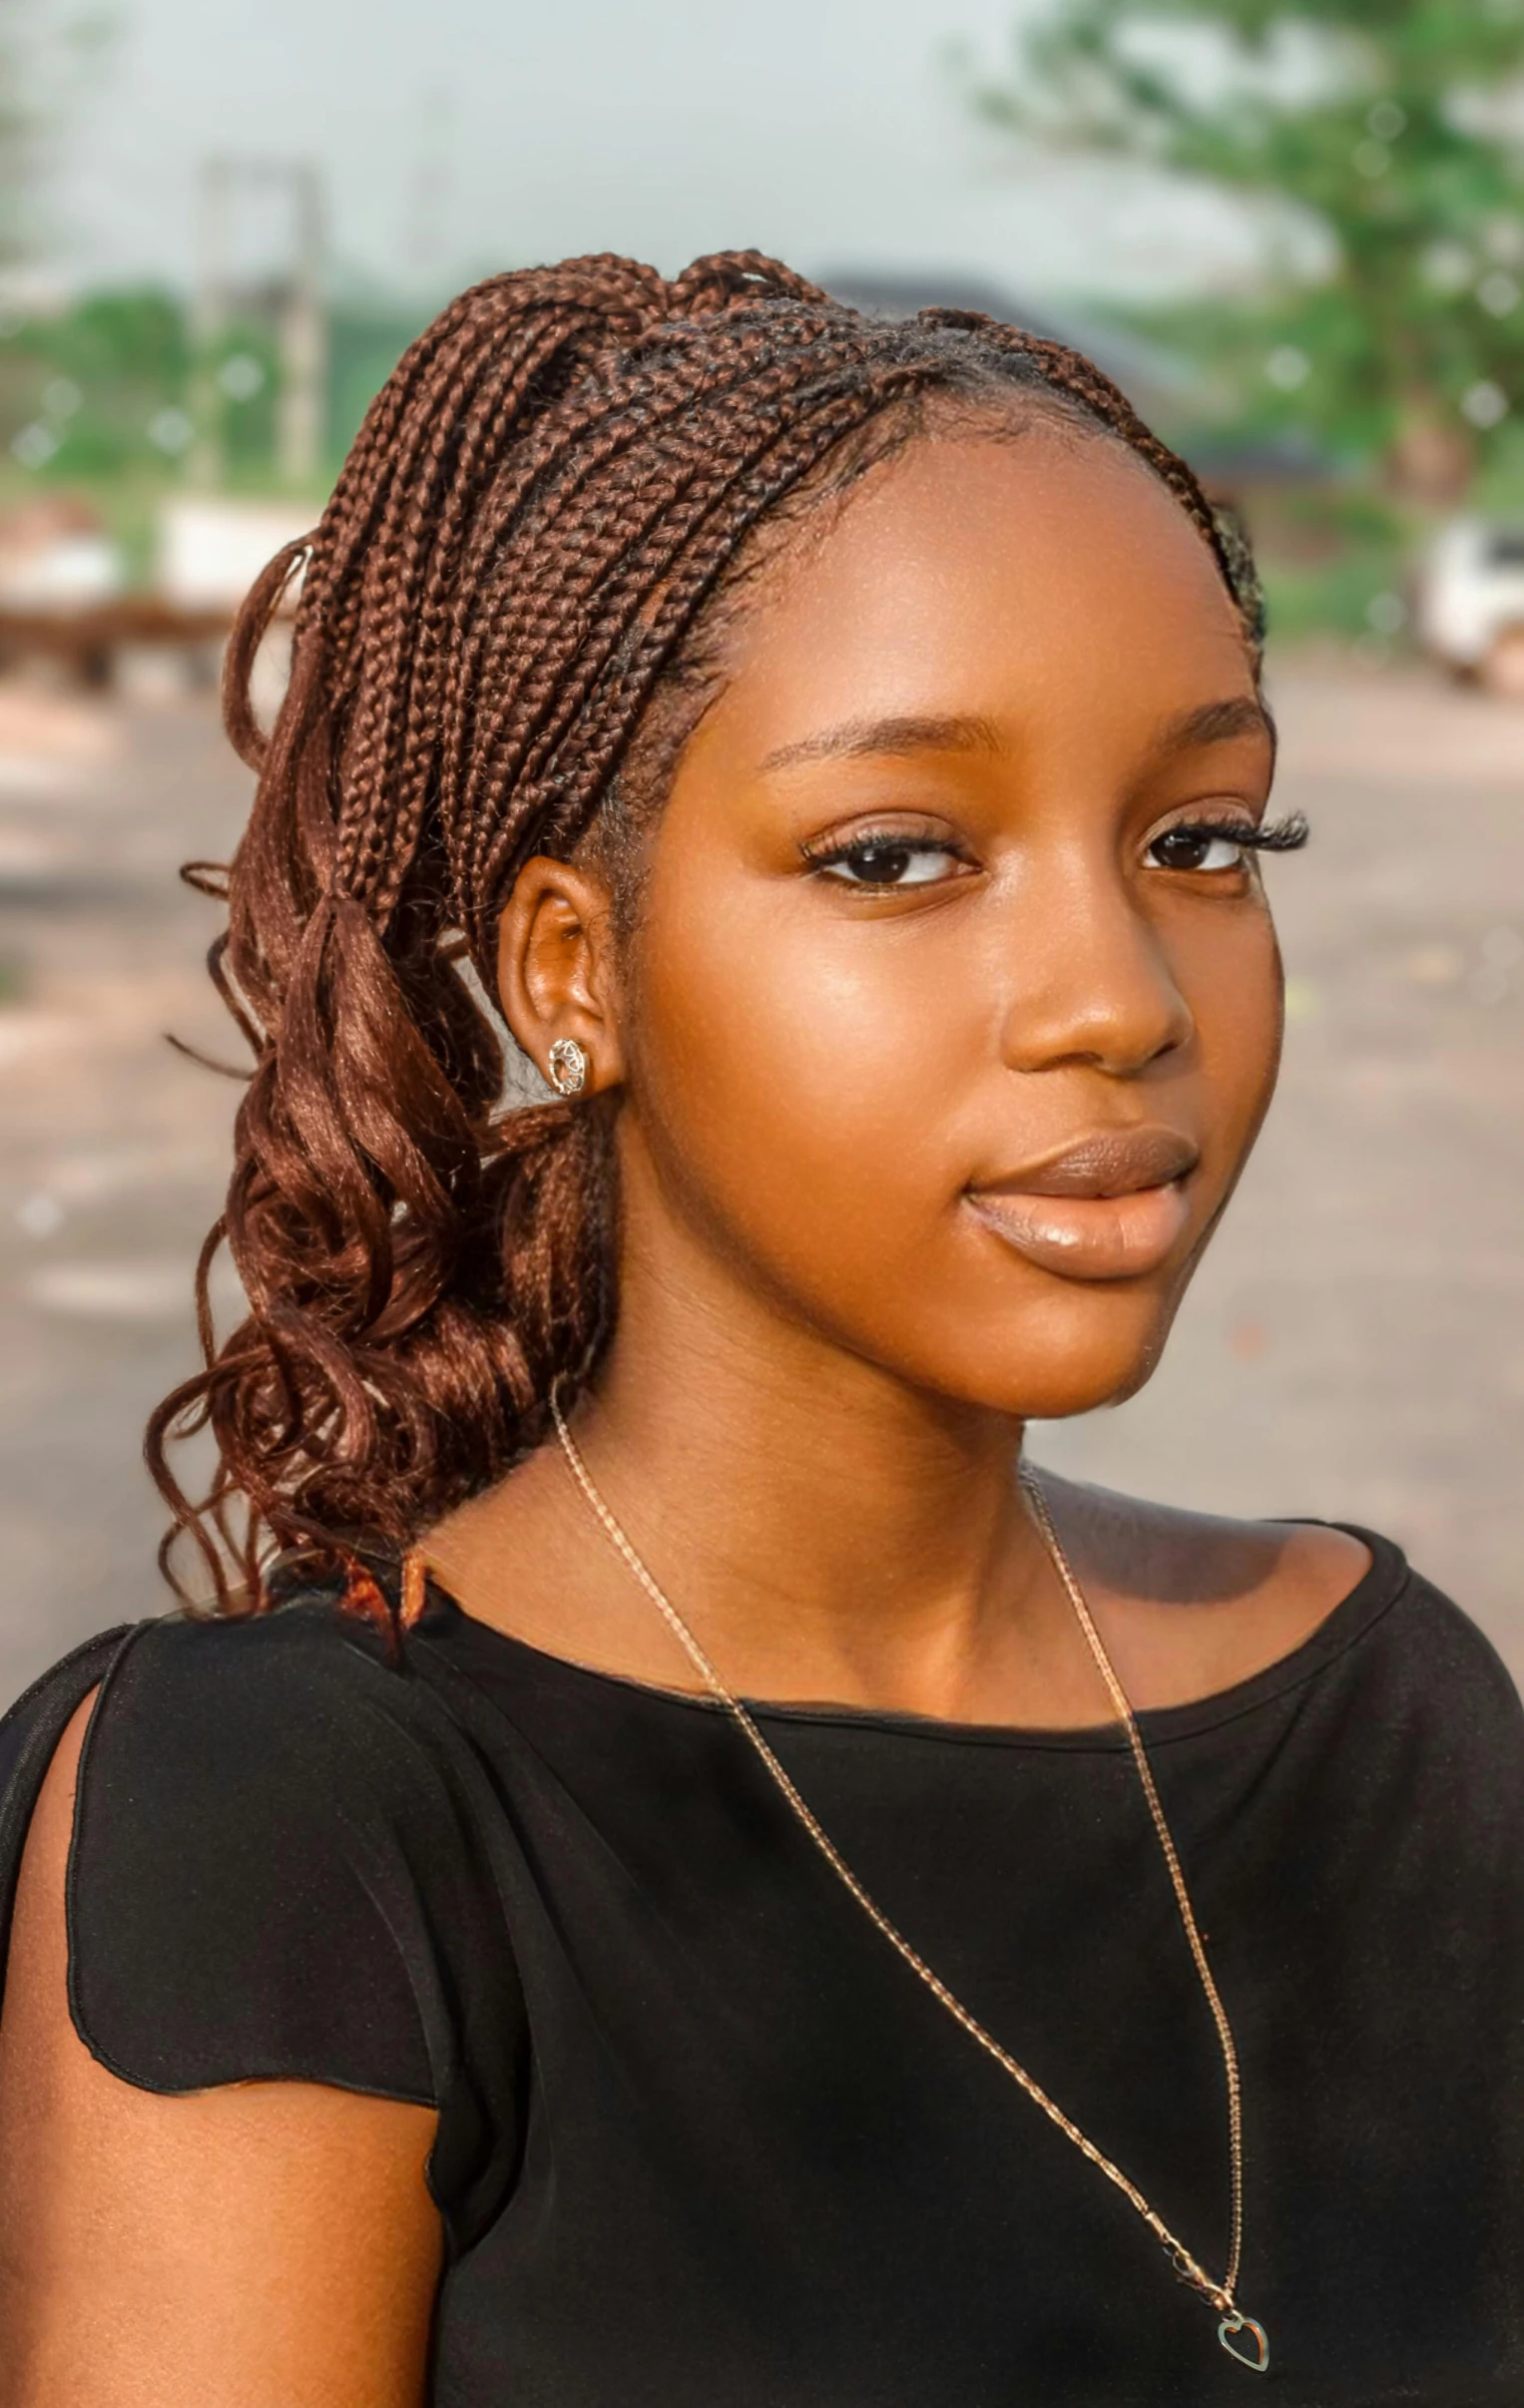
[[[161,2095],[75,2030],[89,1705],[31,1818],[0,2013],[0,2408],[419,2408],[433,2109],[294,2081]]]

